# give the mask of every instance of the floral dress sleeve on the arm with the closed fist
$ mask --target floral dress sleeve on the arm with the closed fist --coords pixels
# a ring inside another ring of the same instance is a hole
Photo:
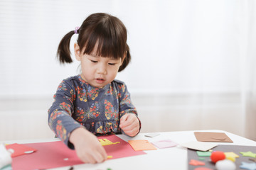
[[[131,97],[130,97],[129,91],[127,90],[126,84],[122,84],[118,86],[119,86],[120,118],[122,118],[122,116],[127,113],[133,113],[134,115],[136,115],[136,117],[139,120],[137,109],[132,104]],[[139,131],[141,130],[141,128],[142,128],[142,123],[139,120]]]

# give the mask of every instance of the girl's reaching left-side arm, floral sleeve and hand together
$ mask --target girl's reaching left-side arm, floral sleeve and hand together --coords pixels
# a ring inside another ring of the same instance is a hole
[[[70,81],[63,81],[54,96],[53,106],[48,111],[48,124],[55,134],[70,149],[74,149],[82,162],[104,162],[107,153],[97,137],[72,118],[75,88]]]

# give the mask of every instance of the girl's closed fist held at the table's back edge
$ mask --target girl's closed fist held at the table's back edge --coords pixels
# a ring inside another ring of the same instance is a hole
[[[126,135],[134,137],[139,132],[139,119],[133,113],[127,113],[120,119],[119,127]]]

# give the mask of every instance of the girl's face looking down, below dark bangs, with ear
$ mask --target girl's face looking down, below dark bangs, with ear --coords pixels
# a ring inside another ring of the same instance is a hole
[[[96,47],[97,45],[95,45],[95,49]],[[102,88],[117,76],[122,59],[97,56],[95,49],[91,55],[83,55],[83,52],[80,52],[80,47],[75,43],[75,57],[81,63],[82,79],[91,86]]]

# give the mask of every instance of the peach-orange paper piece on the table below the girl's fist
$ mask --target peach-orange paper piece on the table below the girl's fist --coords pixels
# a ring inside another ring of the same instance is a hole
[[[129,140],[128,142],[135,151],[156,150],[156,147],[147,140]]]

